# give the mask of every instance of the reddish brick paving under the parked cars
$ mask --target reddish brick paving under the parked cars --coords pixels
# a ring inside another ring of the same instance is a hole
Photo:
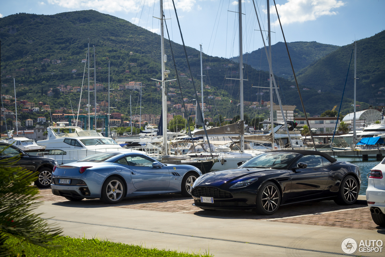
[[[41,200],[43,201],[69,202],[64,197],[52,195],[50,189],[40,190],[40,195]],[[271,222],[385,231],[385,228],[377,227],[377,225],[373,222],[369,208],[367,207],[366,202],[362,200],[358,201],[360,204],[350,206],[337,205],[333,201],[310,202],[282,206],[274,215],[271,216],[256,215],[251,211],[203,211],[197,207],[192,206],[193,202],[194,201],[191,198],[182,197],[182,195],[179,194],[167,194],[128,198],[122,200],[122,202],[117,205],[107,205],[101,202],[99,199],[82,200],[80,202],[72,202],[72,204],[79,205],[79,207],[87,207],[92,205],[112,206],[116,208],[152,210],[158,212],[179,212],[212,218],[246,218],[269,220]]]

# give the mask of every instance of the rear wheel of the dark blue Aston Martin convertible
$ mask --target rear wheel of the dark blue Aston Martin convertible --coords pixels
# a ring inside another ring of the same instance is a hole
[[[341,181],[340,190],[334,202],[339,205],[352,205],[357,201],[359,190],[357,180],[348,175]]]

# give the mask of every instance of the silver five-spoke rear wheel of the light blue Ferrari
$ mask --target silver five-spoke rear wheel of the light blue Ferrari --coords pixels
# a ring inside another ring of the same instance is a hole
[[[102,187],[102,200],[105,203],[119,203],[124,198],[124,191],[124,184],[120,178],[107,178]]]

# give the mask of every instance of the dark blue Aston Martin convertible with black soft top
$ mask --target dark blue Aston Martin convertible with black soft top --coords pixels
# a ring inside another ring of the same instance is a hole
[[[235,169],[200,176],[192,197],[193,205],[203,210],[255,209],[271,215],[280,205],[309,200],[351,205],[359,191],[357,165],[318,151],[280,150],[257,155]]]

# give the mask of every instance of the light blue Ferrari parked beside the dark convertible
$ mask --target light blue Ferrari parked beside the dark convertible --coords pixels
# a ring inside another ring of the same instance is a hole
[[[55,166],[51,189],[70,201],[101,198],[119,203],[124,197],[181,193],[191,196],[202,173],[191,165],[163,164],[137,153],[107,152]]]

